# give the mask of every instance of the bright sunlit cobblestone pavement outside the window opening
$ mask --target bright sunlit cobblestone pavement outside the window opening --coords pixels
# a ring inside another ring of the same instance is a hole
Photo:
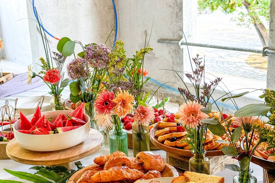
[[[225,15],[221,11],[198,14],[196,42],[262,49],[253,26],[240,27],[236,25],[236,21],[231,21],[231,17],[237,16],[238,12]],[[245,62],[247,57],[254,53],[203,47],[193,47],[193,53],[205,55],[205,68],[208,72],[266,81],[266,70],[252,67]]]

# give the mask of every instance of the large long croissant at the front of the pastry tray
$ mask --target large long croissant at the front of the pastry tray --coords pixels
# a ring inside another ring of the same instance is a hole
[[[130,169],[127,166],[115,166],[109,170],[102,170],[95,173],[91,180],[93,182],[113,182],[118,180],[137,180],[141,178],[144,173]]]

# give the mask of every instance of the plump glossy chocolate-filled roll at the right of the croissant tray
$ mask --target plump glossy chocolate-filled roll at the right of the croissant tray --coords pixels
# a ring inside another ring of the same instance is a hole
[[[151,151],[139,152],[136,155],[137,161],[145,170],[157,170],[162,172],[164,169],[164,159],[160,154]]]

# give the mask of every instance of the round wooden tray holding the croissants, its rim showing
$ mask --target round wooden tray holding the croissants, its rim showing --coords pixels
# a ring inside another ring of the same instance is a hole
[[[82,176],[82,174],[87,170],[91,169],[93,167],[97,166],[97,164],[91,164],[89,166],[86,166],[85,168],[82,168],[81,170],[78,170],[75,172],[71,178],[69,179],[68,183],[76,183],[77,180]],[[178,171],[171,166],[168,163],[165,163],[164,170],[161,172],[162,177],[178,177]]]

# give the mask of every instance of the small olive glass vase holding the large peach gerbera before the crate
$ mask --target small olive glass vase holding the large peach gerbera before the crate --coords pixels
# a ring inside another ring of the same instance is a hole
[[[210,162],[209,159],[205,156],[206,151],[204,150],[202,154],[197,154],[193,150],[192,154],[194,156],[189,159],[189,171],[209,175]]]

